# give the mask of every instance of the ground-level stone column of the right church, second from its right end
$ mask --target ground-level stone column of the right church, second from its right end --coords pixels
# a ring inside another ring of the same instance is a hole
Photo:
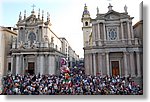
[[[135,77],[135,62],[133,52],[130,52],[130,68],[131,68],[131,77]]]

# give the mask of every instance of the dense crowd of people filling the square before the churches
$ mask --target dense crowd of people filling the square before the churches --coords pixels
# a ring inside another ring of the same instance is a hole
[[[65,73],[66,74],[66,73]],[[70,68],[69,75],[7,75],[4,95],[142,95],[131,78],[85,75],[82,68]],[[67,77],[66,77],[67,76]]]

